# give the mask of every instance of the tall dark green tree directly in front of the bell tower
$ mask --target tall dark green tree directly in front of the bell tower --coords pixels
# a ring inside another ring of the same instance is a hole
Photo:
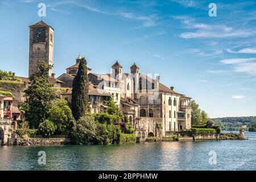
[[[48,76],[48,71],[52,68],[52,65],[48,65],[44,61],[38,61],[37,66],[38,72],[30,76],[31,85],[24,90],[28,100],[22,105],[28,124],[34,129],[37,129],[39,123],[47,118],[52,101],[57,98]]]

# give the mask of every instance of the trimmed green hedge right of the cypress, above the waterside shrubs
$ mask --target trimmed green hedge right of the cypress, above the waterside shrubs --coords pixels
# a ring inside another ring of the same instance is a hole
[[[119,123],[121,121],[118,115],[112,115],[108,113],[97,113],[93,114],[95,121],[100,123],[107,123],[108,125],[112,125],[113,123]]]

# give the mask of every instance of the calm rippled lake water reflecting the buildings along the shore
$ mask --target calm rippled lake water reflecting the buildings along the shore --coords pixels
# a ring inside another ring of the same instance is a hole
[[[256,133],[249,140],[152,142],[98,146],[2,146],[0,170],[256,170]],[[46,165],[38,152],[46,152]],[[209,164],[209,152],[217,164]]]

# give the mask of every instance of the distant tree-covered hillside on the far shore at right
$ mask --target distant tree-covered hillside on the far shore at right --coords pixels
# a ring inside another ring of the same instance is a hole
[[[256,122],[256,116],[250,117],[225,117],[225,118],[213,118],[215,125],[220,125],[221,130],[239,130],[241,127],[248,130],[253,122]]]

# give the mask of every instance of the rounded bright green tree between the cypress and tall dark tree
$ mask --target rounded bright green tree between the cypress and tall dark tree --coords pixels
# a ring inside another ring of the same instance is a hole
[[[66,100],[60,99],[56,101],[48,114],[49,121],[52,121],[55,126],[55,133],[67,134],[71,131],[75,119],[73,118],[72,111]]]

